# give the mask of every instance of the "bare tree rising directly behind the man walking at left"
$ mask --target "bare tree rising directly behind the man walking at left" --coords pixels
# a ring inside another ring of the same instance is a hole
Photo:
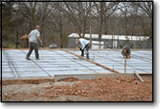
[[[55,4],[49,2],[18,2],[18,10],[29,24],[28,33],[36,25],[39,25],[41,27],[42,40],[46,40],[46,36],[43,34],[44,29],[47,27],[45,24]]]

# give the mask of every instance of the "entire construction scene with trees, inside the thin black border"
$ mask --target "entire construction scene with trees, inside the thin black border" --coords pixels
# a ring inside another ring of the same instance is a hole
[[[152,102],[151,0],[10,1],[0,5],[2,102]]]

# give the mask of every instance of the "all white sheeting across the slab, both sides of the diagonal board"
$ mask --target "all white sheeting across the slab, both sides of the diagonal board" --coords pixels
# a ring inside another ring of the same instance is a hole
[[[70,51],[80,55],[80,51]],[[2,51],[2,79],[41,78],[55,75],[110,74],[100,66],[61,50],[39,50],[41,60],[35,60],[35,53],[26,60],[28,50]],[[120,73],[124,71],[124,59],[119,51],[89,51],[90,60]],[[80,70],[76,70],[80,69]],[[132,51],[127,60],[127,73],[152,73],[152,51]]]

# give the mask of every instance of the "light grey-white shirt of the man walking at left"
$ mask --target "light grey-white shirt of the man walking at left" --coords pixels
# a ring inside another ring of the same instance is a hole
[[[37,36],[40,37],[40,33],[39,33],[38,30],[35,29],[35,30],[32,30],[32,31],[29,33],[28,36],[30,36],[30,37],[29,37],[29,42],[34,42],[34,43],[37,44]]]

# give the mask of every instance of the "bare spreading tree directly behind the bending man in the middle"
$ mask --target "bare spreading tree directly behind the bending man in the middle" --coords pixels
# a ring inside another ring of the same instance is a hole
[[[64,5],[61,5],[59,9],[77,27],[79,35],[83,33],[82,37],[84,37],[89,18],[89,3],[64,2]]]

